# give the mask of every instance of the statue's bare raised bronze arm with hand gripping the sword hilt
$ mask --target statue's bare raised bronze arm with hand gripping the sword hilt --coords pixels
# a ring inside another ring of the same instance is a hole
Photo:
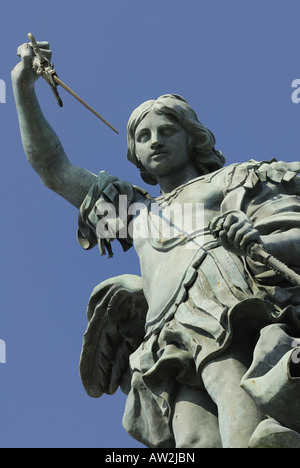
[[[50,58],[49,44],[43,42],[39,46]],[[71,164],[59,138],[46,121],[35,94],[38,75],[32,68],[30,44],[20,46],[18,55],[21,61],[13,69],[11,77],[27,159],[44,185],[79,208],[96,176]]]

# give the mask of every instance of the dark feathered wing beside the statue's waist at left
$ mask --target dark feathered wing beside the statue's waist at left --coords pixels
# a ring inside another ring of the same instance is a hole
[[[94,289],[79,365],[89,396],[112,395],[119,386],[129,392],[129,356],[143,341],[147,309],[139,276],[110,278]]]

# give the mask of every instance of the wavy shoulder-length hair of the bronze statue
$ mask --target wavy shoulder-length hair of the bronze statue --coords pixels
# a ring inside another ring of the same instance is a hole
[[[199,175],[220,169],[225,164],[225,157],[221,151],[215,150],[215,137],[212,132],[199,122],[195,111],[177,94],[165,94],[157,100],[146,101],[131,114],[127,125],[128,153],[127,158],[141,172],[142,179],[151,185],[156,185],[157,179],[146,171],[135,154],[135,131],[140,122],[154,111],[175,118],[188,134],[188,150]]]

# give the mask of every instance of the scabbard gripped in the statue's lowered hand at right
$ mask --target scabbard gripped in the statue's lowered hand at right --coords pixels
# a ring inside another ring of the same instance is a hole
[[[209,228],[212,235],[217,239],[220,231],[223,228],[223,217],[215,217],[211,220]],[[289,268],[285,263],[278,260],[278,258],[271,255],[267,250],[257,242],[251,242],[246,246],[246,255],[255,262],[260,262],[266,265],[269,269],[273,270],[278,275],[282,276],[295,286],[300,286],[300,275],[294,270]]]

